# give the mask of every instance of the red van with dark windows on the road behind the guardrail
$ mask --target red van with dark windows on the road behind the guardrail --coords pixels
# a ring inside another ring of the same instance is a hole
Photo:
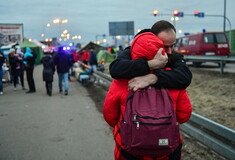
[[[228,56],[228,39],[224,32],[203,32],[177,38],[175,51],[184,55]]]

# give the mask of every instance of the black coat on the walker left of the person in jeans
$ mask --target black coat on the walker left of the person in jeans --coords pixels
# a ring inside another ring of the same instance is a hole
[[[55,66],[52,56],[49,54],[44,55],[41,59],[41,63],[43,64],[43,81],[52,82],[55,72]]]

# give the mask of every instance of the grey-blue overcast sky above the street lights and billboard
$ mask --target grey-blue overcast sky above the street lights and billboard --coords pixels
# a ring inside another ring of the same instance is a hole
[[[24,36],[42,40],[40,34],[47,23],[53,19],[68,19],[61,24],[61,30],[67,29],[71,36],[81,35],[83,43],[95,41],[96,35],[109,35],[109,22],[134,21],[135,33],[138,29],[150,28],[156,21],[170,20],[170,16],[152,15],[154,9],[162,14],[171,14],[174,9],[184,14],[193,14],[195,10],[205,15],[223,15],[224,0],[1,0],[0,23],[23,23]],[[226,17],[235,27],[234,0],[226,0]],[[173,21],[171,21],[173,23]],[[197,33],[222,31],[222,17],[198,18],[185,16],[176,22],[176,29]],[[230,29],[226,23],[226,29]],[[46,36],[59,35],[59,25],[45,28]],[[182,34],[177,34],[181,36]]]

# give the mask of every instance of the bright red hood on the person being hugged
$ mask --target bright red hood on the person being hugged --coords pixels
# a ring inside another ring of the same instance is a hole
[[[163,42],[152,32],[144,32],[136,36],[131,44],[131,58],[144,58],[151,60],[160,48],[164,48]]]

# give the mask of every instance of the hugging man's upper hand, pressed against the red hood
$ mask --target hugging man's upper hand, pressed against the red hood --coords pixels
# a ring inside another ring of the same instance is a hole
[[[168,56],[166,53],[163,53],[163,48],[160,48],[152,60],[148,61],[150,70],[164,68],[168,62]]]

